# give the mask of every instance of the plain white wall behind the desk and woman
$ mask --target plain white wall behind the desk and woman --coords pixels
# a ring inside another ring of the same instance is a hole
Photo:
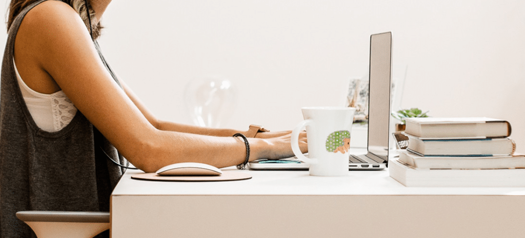
[[[402,107],[509,120],[525,152],[524,1],[114,0],[102,22],[106,58],[156,115],[191,123],[184,86],[220,75],[238,89],[225,125],[238,129],[343,105],[370,34],[392,31]]]

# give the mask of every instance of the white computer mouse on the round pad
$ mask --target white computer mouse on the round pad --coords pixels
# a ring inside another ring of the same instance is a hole
[[[219,176],[223,174],[219,168],[202,163],[176,163],[167,165],[156,171],[160,176]]]

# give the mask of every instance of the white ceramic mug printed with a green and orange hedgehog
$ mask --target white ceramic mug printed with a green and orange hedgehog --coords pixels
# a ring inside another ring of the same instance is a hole
[[[304,121],[292,131],[293,154],[310,164],[310,175],[348,175],[350,132],[354,107],[303,107]],[[299,149],[299,133],[306,126],[308,157]]]

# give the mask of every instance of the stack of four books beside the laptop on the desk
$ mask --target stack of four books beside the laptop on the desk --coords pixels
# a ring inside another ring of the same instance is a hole
[[[525,187],[510,123],[485,117],[408,118],[408,147],[388,163],[407,187]]]

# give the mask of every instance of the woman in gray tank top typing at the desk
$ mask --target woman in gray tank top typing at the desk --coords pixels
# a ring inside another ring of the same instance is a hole
[[[0,92],[2,237],[29,236],[17,211],[109,211],[122,170],[108,157],[121,163],[125,157],[154,172],[187,161],[220,168],[293,155],[289,132],[211,129],[155,118],[114,76],[93,41],[109,3],[10,3]],[[306,152],[306,135],[300,140]]]

